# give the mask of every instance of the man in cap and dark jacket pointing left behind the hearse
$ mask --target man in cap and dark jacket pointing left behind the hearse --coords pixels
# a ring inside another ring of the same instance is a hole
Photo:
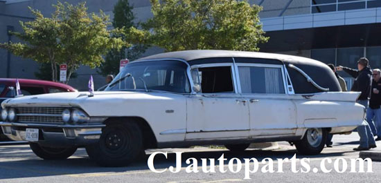
[[[369,106],[372,85],[372,71],[369,67],[368,59],[364,57],[360,58],[359,61],[357,61],[357,68],[358,70],[338,66],[336,70],[344,70],[346,73],[355,78],[351,91],[361,92],[360,97],[358,97],[356,102],[362,104],[366,110]],[[366,120],[364,120],[363,125],[357,126],[357,132],[360,135],[360,146],[353,148],[353,150],[364,151],[377,147],[375,145],[371,127]]]

